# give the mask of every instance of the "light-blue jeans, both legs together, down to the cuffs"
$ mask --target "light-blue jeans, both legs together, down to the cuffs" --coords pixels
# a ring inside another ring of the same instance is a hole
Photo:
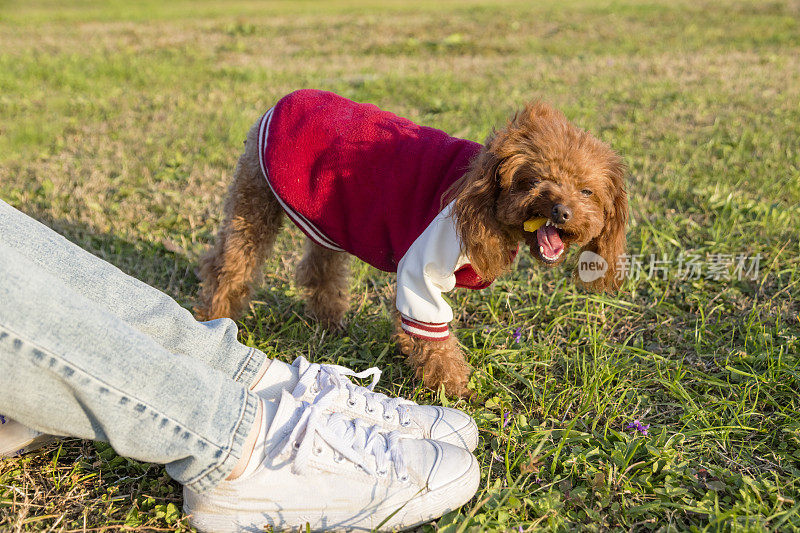
[[[0,412],[196,492],[230,474],[265,355],[0,201]]]

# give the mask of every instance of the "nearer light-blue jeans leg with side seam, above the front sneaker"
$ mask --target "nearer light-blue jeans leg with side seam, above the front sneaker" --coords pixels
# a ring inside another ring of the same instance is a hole
[[[242,383],[170,353],[3,243],[0,302],[1,412],[166,464],[195,491],[231,472],[258,405]]]

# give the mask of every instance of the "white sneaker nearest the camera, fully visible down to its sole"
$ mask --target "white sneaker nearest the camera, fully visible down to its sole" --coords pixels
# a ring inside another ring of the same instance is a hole
[[[263,442],[249,474],[204,494],[184,489],[198,531],[403,529],[464,505],[480,479],[461,447],[383,433],[286,391]]]

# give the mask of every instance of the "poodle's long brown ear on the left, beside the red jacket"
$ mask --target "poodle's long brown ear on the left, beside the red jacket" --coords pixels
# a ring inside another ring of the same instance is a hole
[[[463,251],[476,272],[494,280],[508,266],[509,245],[497,222],[500,171],[503,158],[497,155],[498,137],[493,133],[472,162],[455,199],[456,229]]]

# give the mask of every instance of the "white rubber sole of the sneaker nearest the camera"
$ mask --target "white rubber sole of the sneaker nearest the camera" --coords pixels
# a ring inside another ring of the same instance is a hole
[[[436,520],[461,507],[472,499],[479,483],[480,468],[478,461],[472,457],[467,471],[447,485],[409,501],[399,510],[378,508],[369,516],[336,516],[339,513],[331,512],[315,517],[313,510],[287,511],[280,516],[253,513],[191,514],[191,508],[195,505],[194,495],[190,491],[184,491],[184,512],[189,515],[189,525],[205,533],[256,533],[265,531],[267,526],[272,527],[273,531],[297,527],[305,530],[306,524],[310,525],[311,531],[399,531]]]

